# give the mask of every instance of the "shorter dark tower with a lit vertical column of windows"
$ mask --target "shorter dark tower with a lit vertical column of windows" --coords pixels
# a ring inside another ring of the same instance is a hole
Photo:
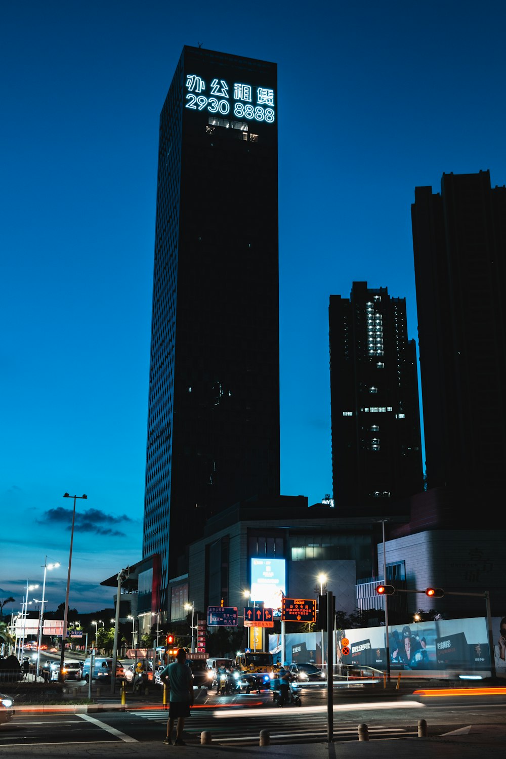
[[[354,282],[328,307],[336,515],[391,513],[423,490],[416,348],[406,301]]]

